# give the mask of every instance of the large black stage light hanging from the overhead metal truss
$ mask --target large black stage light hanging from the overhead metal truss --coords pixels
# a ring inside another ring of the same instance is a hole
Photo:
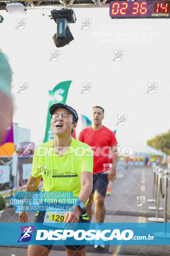
[[[52,39],[57,47],[63,47],[74,40],[70,32],[69,23],[75,23],[76,16],[72,9],[52,10],[51,15],[57,23],[57,33]]]

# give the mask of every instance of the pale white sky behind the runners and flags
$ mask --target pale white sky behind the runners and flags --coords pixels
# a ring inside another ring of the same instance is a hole
[[[14,118],[20,127],[31,129],[31,141],[42,143],[48,109],[48,90],[61,81],[72,80],[67,104],[92,119],[92,107],[105,109],[103,125],[116,129],[120,147],[135,147],[170,129],[170,20],[117,19],[109,8],[74,9],[76,23],[70,24],[74,41],[57,48],[52,41],[57,32],[50,10],[27,10],[24,29],[15,29],[17,19],[0,10],[0,48],[8,55],[13,71]],[[91,19],[81,29],[82,19]],[[59,50],[57,61],[49,61],[51,50]],[[114,61],[114,51],[122,59]],[[19,83],[28,83],[25,94],[17,93]],[[83,94],[82,83],[91,83]],[[156,83],[154,93],[146,93],[148,83]],[[118,115],[127,115],[124,125],[116,125]],[[82,129],[79,118],[76,128]]]

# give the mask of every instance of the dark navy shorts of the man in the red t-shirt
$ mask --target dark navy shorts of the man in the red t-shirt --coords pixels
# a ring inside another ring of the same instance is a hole
[[[93,174],[93,191],[97,191],[99,194],[105,197],[106,190],[108,187],[108,174],[107,173],[96,173]]]

